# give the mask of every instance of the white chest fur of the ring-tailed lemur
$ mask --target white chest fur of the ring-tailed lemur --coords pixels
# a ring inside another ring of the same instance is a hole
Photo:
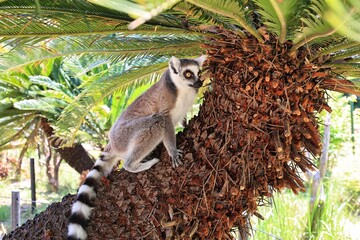
[[[175,102],[175,107],[170,111],[172,122],[176,125],[182,120],[186,113],[191,109],[196,98],[196,92],[194,89],[182,89],[178,91],[178,95]]]

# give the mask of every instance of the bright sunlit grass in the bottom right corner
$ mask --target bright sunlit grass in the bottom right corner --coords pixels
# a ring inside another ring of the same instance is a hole
[[[359,240],[360,163],[357,159],[359,156],[342,156],[333,163],[333,171],[328,171],[324,180],[325,199],[316,210],[316,213],[321,211],[316,227],[311,226],[315,214],[309,211],[309,187],[307,192],[298,195],[286,190],[274,194],[272,207],[260,208],[264,221],[252,218],[251,239]]]

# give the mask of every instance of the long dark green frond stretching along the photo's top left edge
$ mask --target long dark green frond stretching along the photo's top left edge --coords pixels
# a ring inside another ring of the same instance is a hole
[[[128,24],[132,19],[127,14],[85,0],[41,1],[40,6],[35,2],[8,0],[0,3],[0,41],[16,38],[11,44],[16,46],[61,36],[184,33],[180,19],[172,15],[158,16],[130,31]]]

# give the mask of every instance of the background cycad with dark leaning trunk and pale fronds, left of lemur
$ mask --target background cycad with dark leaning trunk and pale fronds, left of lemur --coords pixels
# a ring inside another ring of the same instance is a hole
[[[79,81],[70,77],[61,65],[61,59],[53,59],[0,75],[0,150],[21,148],[17,177],[20,177],[22,159],[28,148],[39,150],[42,149],[39,146],[47,142],[79,173],[93,165],[81,143],[62,148],[63,140],[54,135],[53,123],[80,92]],[[82,135],[102,138],[102,129],[91,115],[83,127],[86,130],[83,129]],[[97,142],[94,137],[92,140]]]

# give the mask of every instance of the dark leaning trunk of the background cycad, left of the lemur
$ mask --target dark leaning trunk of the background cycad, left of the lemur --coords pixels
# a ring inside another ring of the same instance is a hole
[[[78,173],[89,170],[94,161],[85,148],[81,144],[75,144],[72,147],[60,147],[61,139],[54,137],[53,128],[49,125],[46,119],[41,121],[42,129],[44,130],[49,143],[56,152],[58,152],[62,159],[67,162]]]

